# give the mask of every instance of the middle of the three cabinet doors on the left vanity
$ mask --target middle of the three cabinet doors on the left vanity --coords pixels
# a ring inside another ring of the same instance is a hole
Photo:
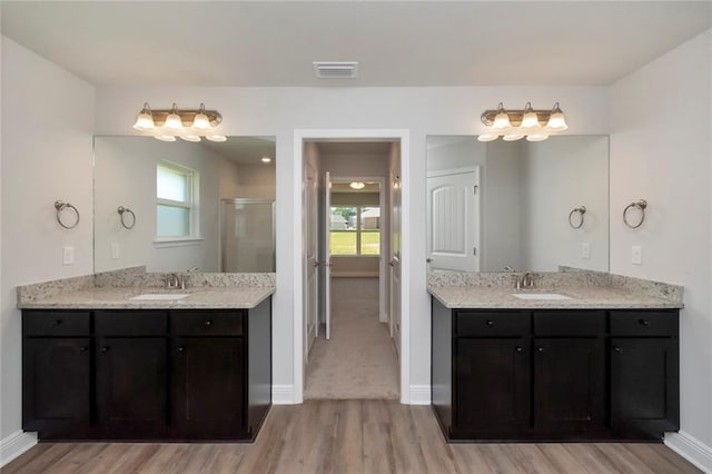
[[[97,343],[97,415],[101,436],[149,438],[165,433],[166,339],[103,337]]]

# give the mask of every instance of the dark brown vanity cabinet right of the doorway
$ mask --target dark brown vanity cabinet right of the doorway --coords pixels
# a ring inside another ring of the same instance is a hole
[[[448,440],[660,440],[679,428],[678,310],[433,303],[433,408]]]

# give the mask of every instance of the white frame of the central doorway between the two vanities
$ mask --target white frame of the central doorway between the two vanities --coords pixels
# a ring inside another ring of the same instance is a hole
[[[294,403],[304,402],[305,358],[304,358],[304,142],[305,141],[358,141],[358,140],[393,140],[400,142],[400,182],[402,209],[400,228],[411,227],[411,131],[408,129],[295,129],[294,130],[294,161],[293,161],[293,226],[297,230],[293,243],[293,354],[294,354]],[[402,231],[400,270],[402,275],[411,271],[411,237],[408,231]],[[411,302],[408,299],[409,279],[400,282],[400,403],[411,403]],[[390,315],[393,317],[393,315]]]

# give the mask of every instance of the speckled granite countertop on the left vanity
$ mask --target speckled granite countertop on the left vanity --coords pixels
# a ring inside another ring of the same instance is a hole
[[[141,294],[189,294],[182,299],[136,300]],[[21,309],[221,309],[254,308],[275,293],[274,286],[195,287],[164,289],[151,287],[89,287],[34,300],[19,300]]]

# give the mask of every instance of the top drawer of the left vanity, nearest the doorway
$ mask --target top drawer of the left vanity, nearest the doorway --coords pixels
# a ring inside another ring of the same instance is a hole
[[[171,312],[174,336],[241,336],[244,312]]]

